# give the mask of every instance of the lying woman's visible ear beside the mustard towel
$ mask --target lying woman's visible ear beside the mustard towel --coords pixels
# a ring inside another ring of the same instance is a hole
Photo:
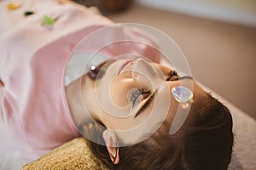
[[[113,164],[119,164],[119,147],[115,133],[107,129],[102,133],[102,137],[105,141],[111,161]]]

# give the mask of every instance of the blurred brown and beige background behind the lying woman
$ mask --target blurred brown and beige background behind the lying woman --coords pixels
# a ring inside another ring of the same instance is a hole
[[[182,49],[195,79],[256,118],[255,0],[78,0],[115,22],[154,26]],[[255,99],[254,99],[255,96]]]

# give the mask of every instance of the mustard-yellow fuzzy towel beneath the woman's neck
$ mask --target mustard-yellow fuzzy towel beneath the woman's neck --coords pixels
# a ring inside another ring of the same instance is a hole
[[[86,139],[77,138],[25,165],[22,170],[108,170],[90,151]]]

